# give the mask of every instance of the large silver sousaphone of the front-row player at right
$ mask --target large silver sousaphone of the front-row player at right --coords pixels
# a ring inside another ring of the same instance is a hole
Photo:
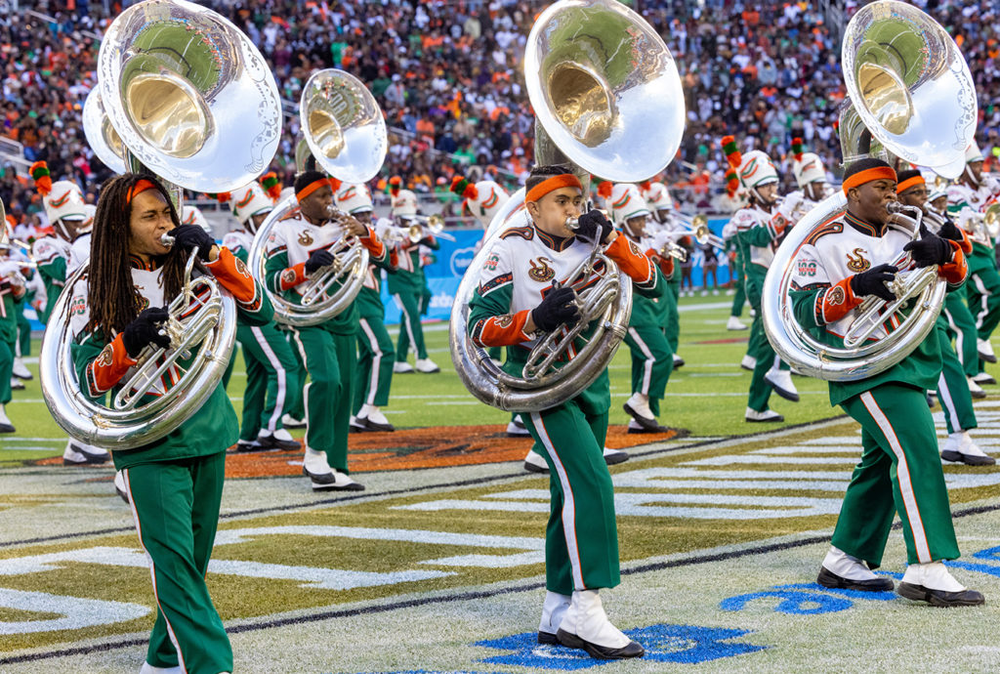
[[[841,116],[845,161],[878,156],[893,163],[899,158],[930,165],[945,176],[960,173],[975,131],[975,90],[958,47],[936,21],[895,0],[866,5],[847,26],[841,60],[852,101]],[[946,285],[935,267],[901,268],[892,284],[896,299],[866,299],[855,310],[843,348],[816,339],[792,312],[794,262],[809,237],[842,217],[846,207],[847,198],[838,191],[790,230],[775,251],[761,293],[764,328],[778,355],[804,374],[831,381],[865,379],[909,355],[933,329]],[[920,209],[892,209],[897,214],[890,226],[917,236]],[[881,339],[868,340],[878,330],[876,324],[904,303],[912,303],[913,309],[897,314],[900,325]]]

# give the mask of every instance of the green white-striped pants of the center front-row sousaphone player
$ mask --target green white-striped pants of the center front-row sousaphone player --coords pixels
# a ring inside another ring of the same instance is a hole
[[[618,585],[615,495],[604,462],[607,412],[587,415],[574,399],[521,418],[550,471],[545,587],[568,595]]]

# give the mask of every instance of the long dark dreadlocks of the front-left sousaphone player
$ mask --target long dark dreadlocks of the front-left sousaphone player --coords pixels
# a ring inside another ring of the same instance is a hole
[[[142,296],[132,283],[132,265],[128,254],[132,214],[128,196],[140,180],[152,181],[154,189],[170,204],[170,219],[174,226],[180,225],[173,202],[153,176],[124,173],[104,184],[97,201],[90,241],[90,271],[87,274],[90,322],[86,329],[88,332],[100,331],[105,343],[135,320],[143,303]],[[186,261],[186,253],[176,247],[159,261],[163,267],[164,298],[180,294]]]

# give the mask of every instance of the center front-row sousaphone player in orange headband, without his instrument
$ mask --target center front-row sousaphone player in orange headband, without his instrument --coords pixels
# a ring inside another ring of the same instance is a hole
[[[538,166],[525,185],[531,224],[510,227],[495,239],[482,281],[469,303],[469,335],[480,347],[506,346],[508,372],[520,371],[541,333],[579,320],[572,288],[561,275],[606,244],[613,259],[650,297],[666,288],[656,265],[597,211],[580,215],[579,179],[564,167]],[[575,234],[566,226],[579,217]],[[643,655],[643,648],[608,620],[598,590],[619,582],[618,535],[611,475],[603,458],[611,405],[607,370],[582,394],[525,415],[553,475],[546,534],[548,593],[540,643],[584,648],[600,658]]]

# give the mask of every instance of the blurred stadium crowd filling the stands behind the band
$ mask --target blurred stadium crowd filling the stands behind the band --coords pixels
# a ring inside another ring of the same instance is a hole
[[[123,3],[108,4],[114,16]],[[386,115],[391,131],[383,182],[398,174],[418,193],[450,203],[455,172],[515,187],[532,164],[534,117],[521,57],[547,0],[201,4],[228,16],[271,62],[288,113],[271,169],[286,184],[295,169],[300,89],[312,70],[327,67],[366,82]],[[978,88],[980,145],[988,156],[1000,154],[1000,3],[914,4],[961,46]],[[0,153],[20,151],[9,144],[15,141],[28,162],[45,160],[53,178],[75,176],[93,193],[110,174],[87,146],[81,112],[96,81],[99,36],[110,21],[104,3],[0,5],[6,6],[0,11]],[[844,23],[857,7],[847,5]],[[688,125],[680,156],[663,176],[682,203],[711,207],[726,168],[718,141],[727,133],[745,149],[766,150],[789,183],[795,136],[828,170],[838,170],[837,106],[845,95],[840,42],[836,22],[826,21],[817,3],[642,0],[638,9],[670,47],[683,80]],[[0,168],[9,210],[19,220],[30,217],[40,209],[30,180],[18,178],[9,160]]]

